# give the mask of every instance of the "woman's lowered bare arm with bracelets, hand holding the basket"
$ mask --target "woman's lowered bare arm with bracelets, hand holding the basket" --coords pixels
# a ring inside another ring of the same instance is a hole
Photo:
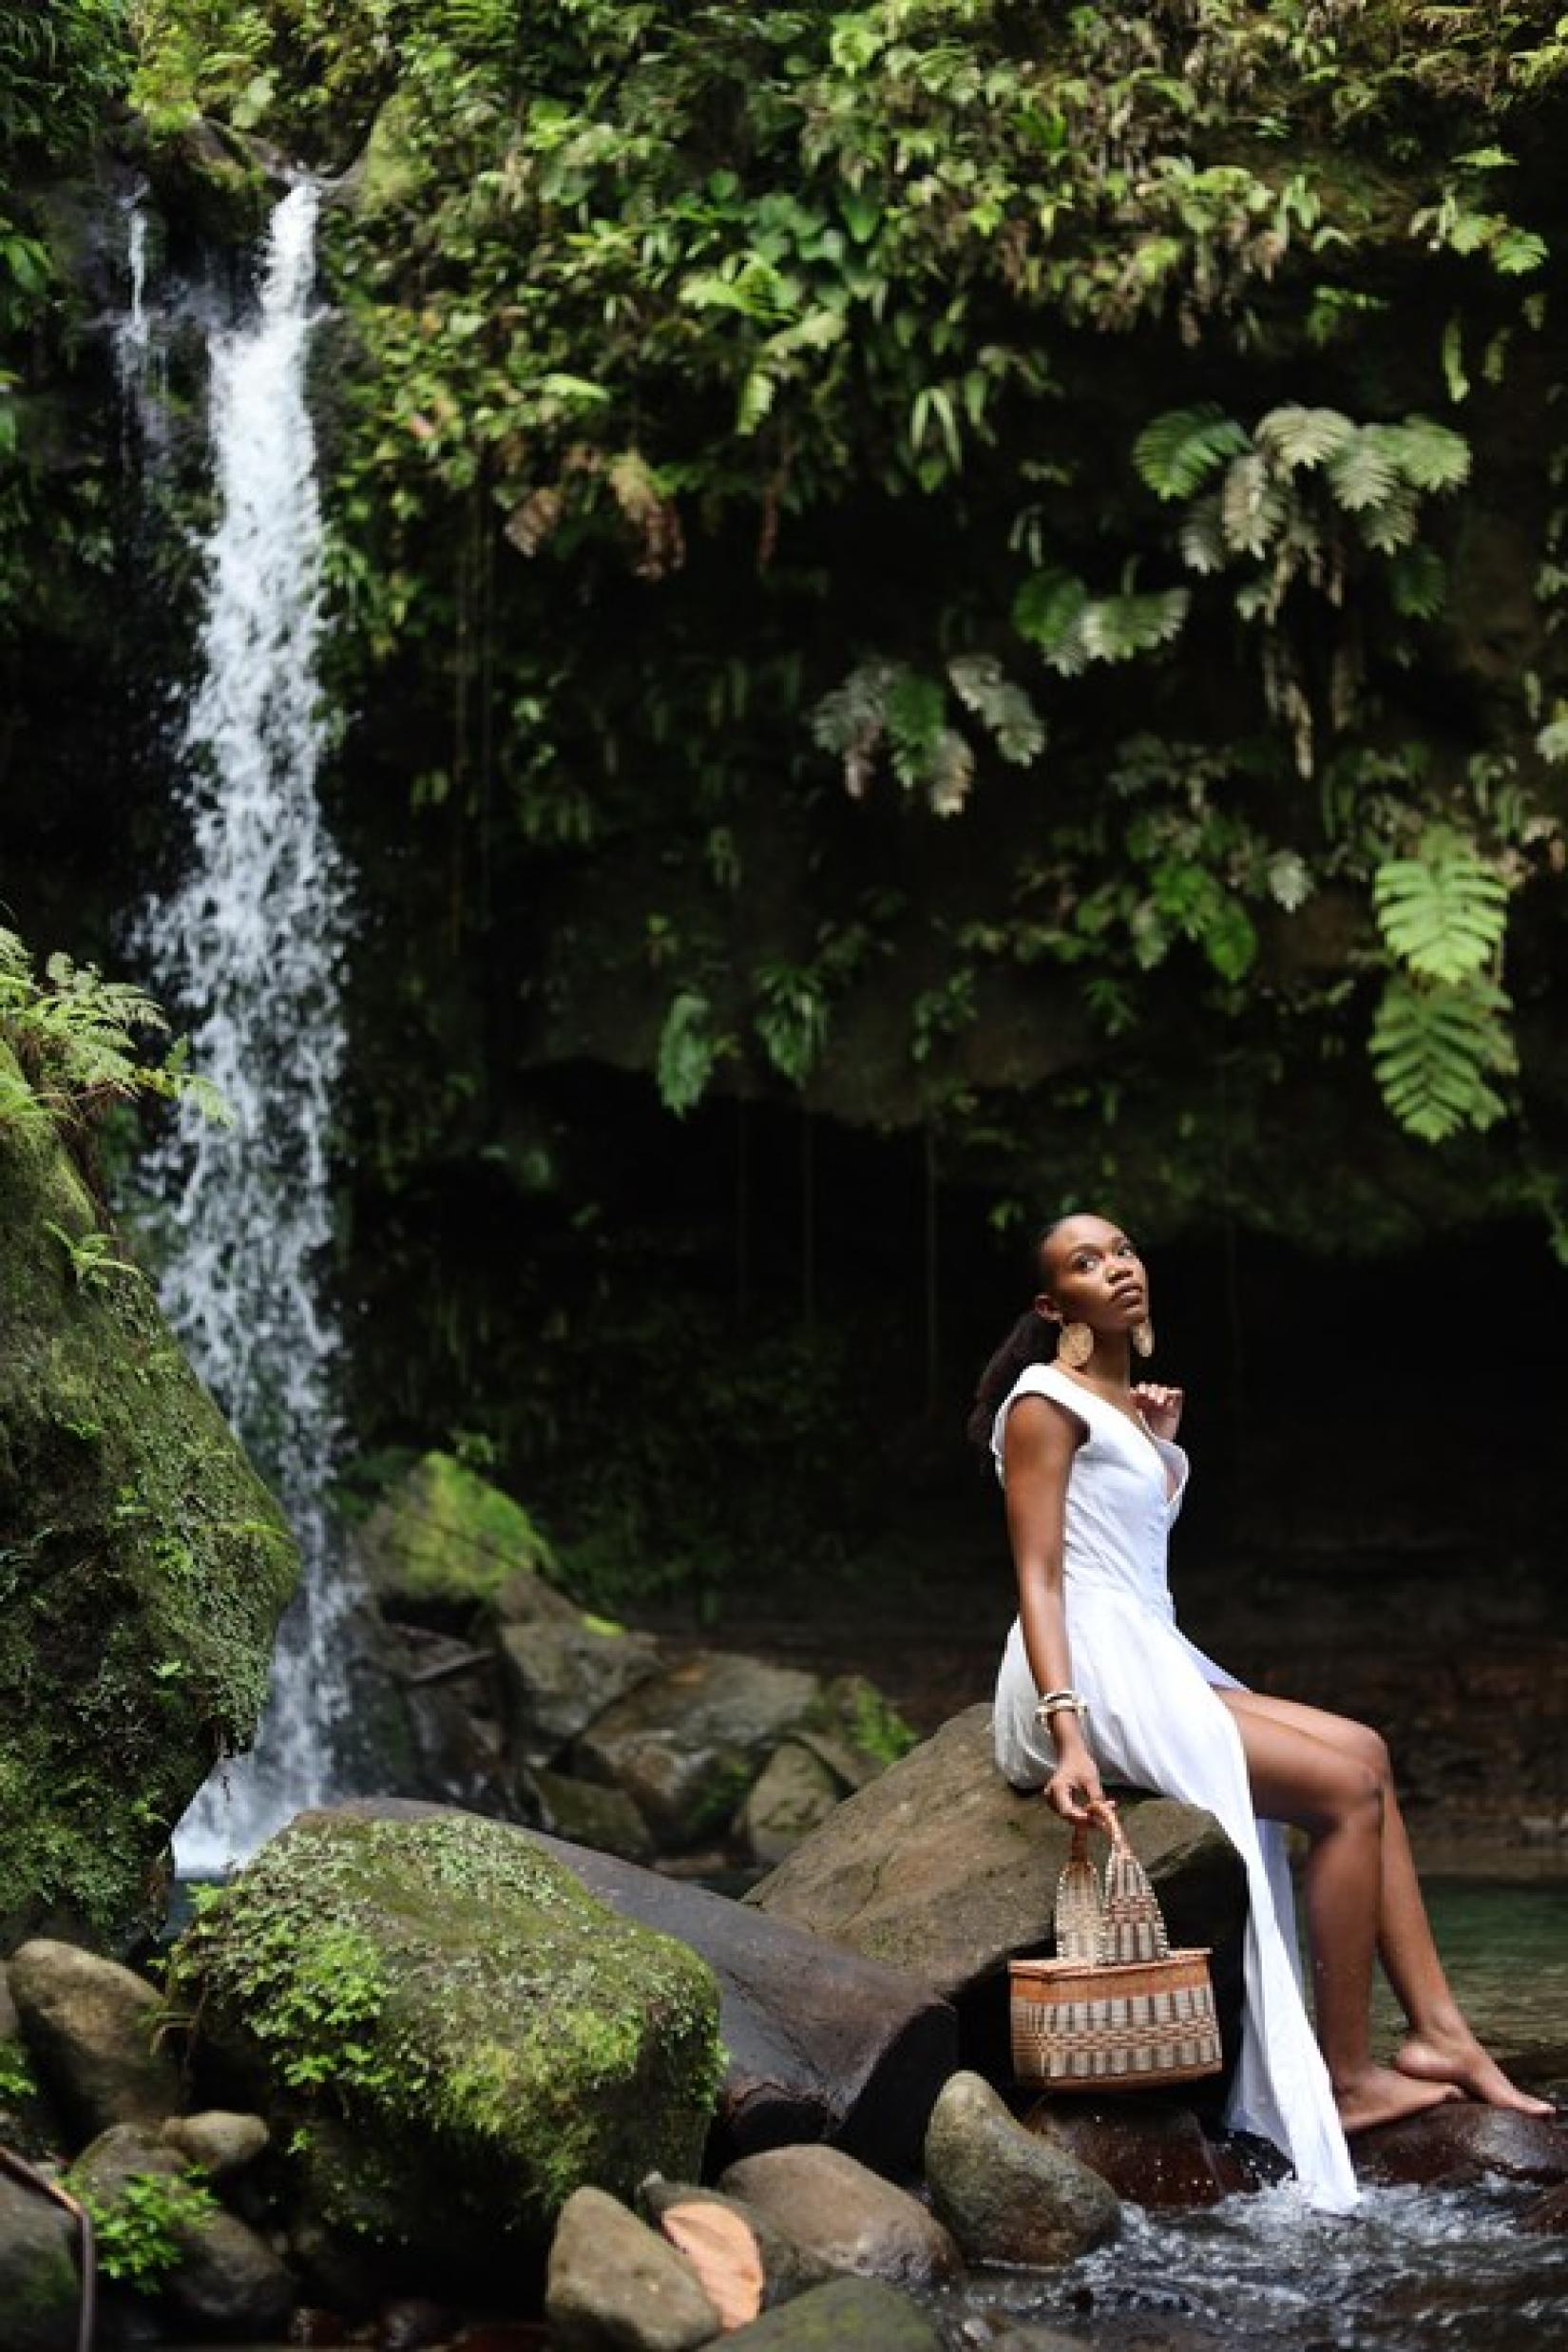
[[[1006,1531],[1018,1571],[1018,1618],[1037,1691],[1072,1689],[1067,1609],[1063,1602],[1063,1519],[1067,1472],[1079,1446],[1072,1414],[1048,1397],[1020,1397],[1006,1416]],[[1056,1771],[1046,1804],[1065,1820],[1088,1820],[1103,1802],[1100,1773],[1072,1708],[1051,1717]]]

